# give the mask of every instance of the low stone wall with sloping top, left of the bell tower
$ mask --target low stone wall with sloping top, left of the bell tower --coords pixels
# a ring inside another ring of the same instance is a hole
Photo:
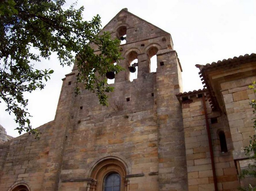
[[[41,139],[24,134],[0,145],[0,190],[8,191],[12,185],[26,183],[33,191],[41,191],[49,155],[49,145],[54,143],[52,123],[38,128]]]

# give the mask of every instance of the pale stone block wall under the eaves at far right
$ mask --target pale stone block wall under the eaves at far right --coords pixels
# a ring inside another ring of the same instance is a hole
[[[253,89],[248,89],[255,77],[247,77],[232,80],[221,84],[223,100],[227,111],[227,119],[230,124],[230,132],[233,140],[233,158],[236,160],[239,173],[251,163],[244,154],[244,147],[249,145],[250,136],[255,134],[253,128],[253,108],[249,102],[256,99]],[[241,180],[241,185],[252,184],[255,180]]]

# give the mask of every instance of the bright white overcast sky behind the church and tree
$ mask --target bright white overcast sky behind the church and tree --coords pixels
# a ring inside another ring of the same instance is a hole
[[[67,5],[73,0],[67,0]],[[172,35],[183,68],[183,90],[202,88],[195,64],[256,53],[256,0],[78,0],[84,6],[84,19],[96,14],[105,26],[121,9],[152,23]],[[61,79],[71,71],[62,68],[58,60],[36,63],[40,68],[55,72],[42,91],[27,94],[32,127],[54,119],[61,90]],[[0,124],[7,134],[17,137],[14,116],[5,112],[0,103]]]

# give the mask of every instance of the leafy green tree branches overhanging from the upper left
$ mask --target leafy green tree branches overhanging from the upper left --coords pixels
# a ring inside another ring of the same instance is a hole
[[[77,82],[95,92],[102,105],[108,105],[105,93],[113,91],[107,84],[106,72],[117,73],[121,69],[113,65],[120,59],[120,42],[101,32],[99,15],[84,21],[84,7],[75,9],[73,4],[64,9],[64,3],[64,0],[0,1],[0,98],[7,105],[6,111],[15,114],[19,133],[27,131],[38,136],[30,125],[28,100],[23,92],[43,89],[53,73],[50,69],[35,69],[33,63],[49,59],[52,52],[57,53],[62,66],[70,66],[76,60]],[[92,44],[100,54],[95,54]]]

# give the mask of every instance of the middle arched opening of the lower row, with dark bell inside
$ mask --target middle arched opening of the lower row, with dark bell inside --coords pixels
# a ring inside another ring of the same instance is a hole
[[[127,56],[127,79],[131,82],[138,77],[138,54],[136,51],[131,51]]]

